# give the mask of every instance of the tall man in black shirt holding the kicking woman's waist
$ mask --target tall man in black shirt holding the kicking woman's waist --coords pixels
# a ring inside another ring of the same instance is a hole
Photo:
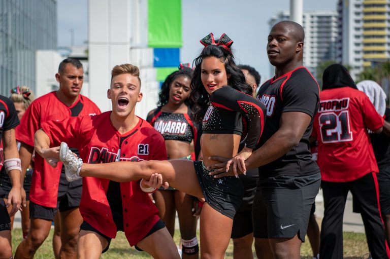
[[[275,24],[268,35],[267,53],[275,76],[257,94],[267,106],[267,120],[257,150],[245,161],[247,170],[259,170],[252,209],[258,258],[300,258],[320,186],[319,168],[309,151],[319,87],[303,67],[303,41],[302,26],[292,21]],[[237,167],[231,164],[214,165],[220,168],[216,177],[234,175]]]

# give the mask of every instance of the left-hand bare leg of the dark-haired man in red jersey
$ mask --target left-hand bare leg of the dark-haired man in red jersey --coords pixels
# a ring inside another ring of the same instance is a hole
[[[34,257],[35,252],[49,235],[51,220],[31,218],[30,224],[27,238],[16,249],[15,259]]]

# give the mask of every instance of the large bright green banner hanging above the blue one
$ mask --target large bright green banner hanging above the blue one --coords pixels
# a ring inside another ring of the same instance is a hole
[[[181,0],[148,0],[148,46],[180,48]]]

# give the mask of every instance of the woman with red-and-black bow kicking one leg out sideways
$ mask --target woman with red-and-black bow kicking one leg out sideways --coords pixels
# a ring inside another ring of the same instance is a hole
[[[150,184],[156,179],[162,183],[162,176],[164,182],[168,181],[175,189],[205,198],[200,226],[201,257],[223,258],[229,245],[233,217],[244,190],[237,176],[219,179],[210,176],[212,171],[207,166],[217,161],[209,157],[234,157],[233,164],[238,163],[240,170],[245,171],[240,161],[249,157],[258,143],[265,123],[266,107],[251,96],[252,89],[233,59],[230,49],[233,41],[226,34],[222,34],[216,42],[210,33],[201,43],[205,48],[194,60],[196,68],[191,81],[190,100],[194,120],[202,121],[203,161],[82,164],[68,152],[66,143],[61,143],[60,159],[68,168],[68,175],[74,178],[94,176],[119,182],[144,178]],[[237,154],[243,132],[243,114],[248,117],[248,133],[244,149]],[[160,174],[158,177],[156,172]],[[145,189],[142,180],[141,188]]]

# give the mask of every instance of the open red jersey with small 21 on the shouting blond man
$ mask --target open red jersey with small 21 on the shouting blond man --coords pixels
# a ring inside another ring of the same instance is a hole
[[[69,118],[44,123],[52,146],[65,141],[79,149],[85,163],[121,161],[166,160],[164,138],[148,122],[139,118],[136,127],[120,134],[110,120],[111,112],[98,116]],[[80,212],[83,219],[104,235],[115,238],[117,229],[107,199],[110,180],[83,177]],[[147,193],[140,189],[139,181],[120,183],[123,229],[128,242],[137,244],[159,220],[158,209]]]

